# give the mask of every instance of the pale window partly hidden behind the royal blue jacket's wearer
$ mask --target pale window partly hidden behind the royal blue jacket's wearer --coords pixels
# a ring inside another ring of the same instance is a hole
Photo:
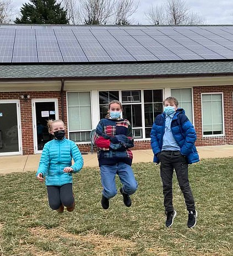
[[[171,89],[171,95],[178,100],[178,107],[183,108],[188,119],[193,122],[192,89]]]

